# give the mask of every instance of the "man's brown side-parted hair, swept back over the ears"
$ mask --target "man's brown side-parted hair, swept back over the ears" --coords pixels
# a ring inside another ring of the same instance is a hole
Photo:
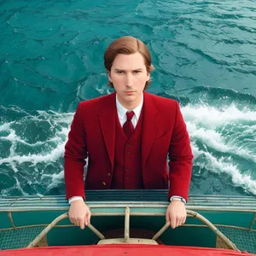
[[[154,70],[154,66],[151,64],[151,55],[147,46],[141,40],[129,36],[118,38],[113,41],[113,43],[109,44],[108,49],[106,49],[104,54],[104,66],[106,67],[107,72],[110,72],[116,55],[131,55],[137,52],[143,55],[147,72],[151,73]],[[150,82],[151,79],[146,82],[144,89],[148,88]],[[109,81],[108,84],[113,88],[113,83]]]

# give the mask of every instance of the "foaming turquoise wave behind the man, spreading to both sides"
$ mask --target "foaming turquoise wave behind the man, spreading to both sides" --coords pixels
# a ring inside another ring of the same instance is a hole
[[[16,120],[5,122],[2,119],[0,123],[0,139],[9,145],[4,154],[0,153],[1,172],[12,170],[14,188],[22,195],[29,193],[23,188],[25,182],[30,186],[43,186],[44,189],[37,190],[39,194],[63,186],[63,154],[73,113],[28,113],[20,108],[4,108],[4,111],[7,116],[15,113]],[[189,131],[195,166],[207,167],[209,172],[219,175],[226,173],[234,186],[256,195],[253,174],[256,168],[256,111],[239,109],[235,104],[217,108],[192,103],[183,106],[181,111]],[[36,132],[32,137],[35,127],[45,123],[48,124],[44,125],[47,136],[40,141]],[[26,146],[26,153],[20,145]],[[5,189],[4,193],[10,191],[12,189]]]

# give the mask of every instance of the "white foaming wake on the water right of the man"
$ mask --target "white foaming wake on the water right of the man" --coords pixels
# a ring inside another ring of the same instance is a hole
[[[239,156],[243,162],[249,160],[256,167],[256,112],[248,108],[238,109],[233,104],[227,108],[187,105],[182,108],[182,113],[195,161],[199,155],[203,155],[206,162],[200,163],[200,166],[219,175],[227,173],[235,186],[256,195],[256,180],[249,171],[241,172],[238,166],[242,164],[231,157]],[[198,142],[203,145],[201,150],[196,147]],[[214,149],[220,157],[213,156],[207,148]]]

